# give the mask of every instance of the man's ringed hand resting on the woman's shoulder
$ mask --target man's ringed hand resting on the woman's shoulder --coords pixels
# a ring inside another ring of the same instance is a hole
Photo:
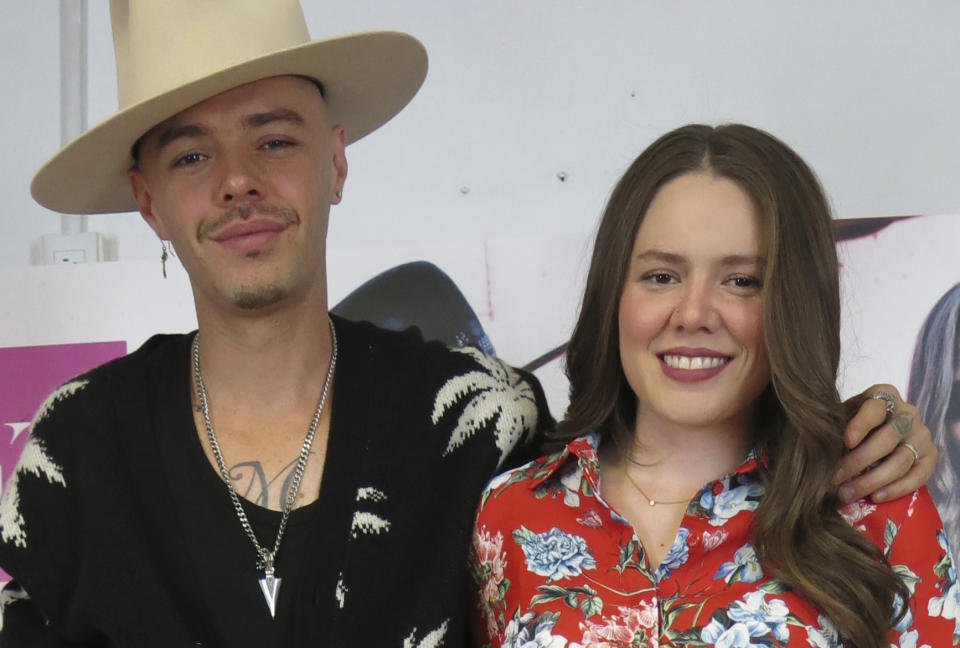
[[[887,401],[893,397],[893,411]],[[843,502],[869,495],[874,502],[896,499],[923,486],[937,464],[937,447],[917,408],[893,385],[873,385],[846,401],[850,420],[844,441],[850,452],[834,477]],[[907,444],[916,449],[918,457]]]

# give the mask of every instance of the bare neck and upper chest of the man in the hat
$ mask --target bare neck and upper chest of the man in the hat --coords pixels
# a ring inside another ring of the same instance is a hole
[[[198,308],[199,360],[207,412],[194,411],[201,445],[221,470],[206,428],[209,415],[231,475],[261,478],[236,486],[242,497],[281,510],[331,363],[326,299],[263,317],[223,317]],[[194,394],[197,385],[194,383]],[[320,490],[330,432],[332,389],[316,421],[294,507]],[[243,481],[242,479],[240,481]]]

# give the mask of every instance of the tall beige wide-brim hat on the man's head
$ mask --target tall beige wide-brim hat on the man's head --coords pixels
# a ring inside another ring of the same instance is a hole
[[[331,124],[355,142],[396,115],[427,73],[412,36],[366,32],[310,42],[296,0],[111,0],[120,110],[63,147],[33,178],[58,212],[136,210],[130,149],[177,113],[278,75],[320,81]]]

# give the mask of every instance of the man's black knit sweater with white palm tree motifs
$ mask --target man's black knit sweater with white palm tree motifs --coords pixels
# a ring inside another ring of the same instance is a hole
[[[415,331],[334,322],[323,484],[291,514],[275,620],[193,423],[192,335],[163,335],[38,412],[0,498],[0,645],[459,645],[476,499],[552,424],[542,390]],[[245,508],[272,546],[280,514]]]

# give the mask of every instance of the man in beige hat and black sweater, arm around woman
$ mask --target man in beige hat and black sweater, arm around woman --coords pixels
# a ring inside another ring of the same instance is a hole
[[[542,391],[477,352],[327,317],[344,149],[413,96],[422,46],[307,43],[293,0],[111,10],[124,108],[34,196],[136,208],[187,269],[199,332],[154,337],[41,407],[0,500],[0,640],[456,645],[474,500],[551,423]],[[893,452],[850,495],[912,489],[935,461],[914,410],[878,394],[851,441],[887,407],[890,425],[846,471],[904,437],[922,460]],[[267,477],[256,502],[236,491],[244,468]]]

